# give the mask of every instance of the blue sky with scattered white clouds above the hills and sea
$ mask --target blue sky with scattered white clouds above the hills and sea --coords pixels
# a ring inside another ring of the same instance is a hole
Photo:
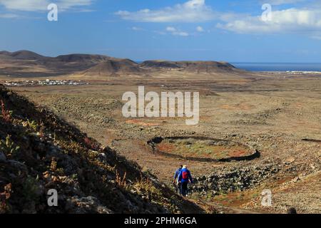
[[[45,56],[321,62],[321,0],[0,0],[0,28],[0,50]]]

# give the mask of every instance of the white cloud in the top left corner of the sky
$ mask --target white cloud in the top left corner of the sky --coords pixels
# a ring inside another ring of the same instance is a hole
[[[6,9],[17,11],[46,11],[51,4],[49,0],[0,0]],[[68,10],[78,6],[89,6],[93,0],[58,0],[55,1],[60,10]]]

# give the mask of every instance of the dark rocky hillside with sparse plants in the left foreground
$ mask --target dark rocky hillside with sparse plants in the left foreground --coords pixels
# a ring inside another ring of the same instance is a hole
[[[4,86],[0,102],[0,213],[203,212]],[[51,189],[58,207],[47,204]]]

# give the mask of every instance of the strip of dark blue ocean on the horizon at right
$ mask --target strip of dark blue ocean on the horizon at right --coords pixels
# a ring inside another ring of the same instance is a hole
[[[319,71],[321,63],[231,63],[246,71]]]

